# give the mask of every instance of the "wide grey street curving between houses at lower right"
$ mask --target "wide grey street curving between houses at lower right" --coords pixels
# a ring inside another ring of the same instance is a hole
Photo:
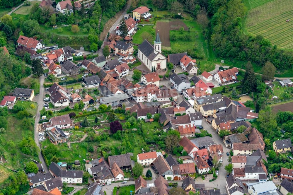
[[[223,146],[223,150],[224,150],[224,154],[222,158],[223,163],[219,169],[218,178],[214,182],[209,182],[209,183],[213,183],[214,187],[217,187],[218,189],[220,189],[221,194],[224,194],[224,193],[226,194],[225,184],[226,184],[227,173],[225,170],[225,166],[228,165],[228,156],[226,155],[226,152],[229,152],[230,150],[226,148],[223,140],[220,138],[217,132],[214,129],[212,129],[212,126],[210,124],[208,124],[205,120],[202,120],[202,126],[204,127],[205,130],[207,130],[207,132],[212,134],[212,138],[216,144],[221,144]]]

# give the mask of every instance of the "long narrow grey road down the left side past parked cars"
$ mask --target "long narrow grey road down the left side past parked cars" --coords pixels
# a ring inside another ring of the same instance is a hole
[[[38,100],[37,100],[38,108],[37,108],[37,114],[35,117],[35,143],[37,144],[37,146],[40,146],[38,124],[40,120],[40,110],[42,110],[43,108],[44,80],[45,80],[44,75],[40,76],[40,93],[38,95]],[[48,172],[48,168],[43,156],[41,155],[41,151],[39,151],[38,155],[39,155],[40,162],[44,166],[45,172]]]

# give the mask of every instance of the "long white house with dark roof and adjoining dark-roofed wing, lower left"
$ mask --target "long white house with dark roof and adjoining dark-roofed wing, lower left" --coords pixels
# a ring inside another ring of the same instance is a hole
[[[52,162],[49,166],[49,172],[51,173],[51,175],[53,175],[53,177],[61,177],[62,182],[66,182],[69,184],[82,183],[83,171],[62,170],[59,165]]]

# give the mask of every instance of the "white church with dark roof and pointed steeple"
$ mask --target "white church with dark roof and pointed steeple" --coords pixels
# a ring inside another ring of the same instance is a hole
[[[167,65],[167,58],[161,54],[162,42],[159,37],[159,31],[154,41],[154,46],[147,40],[138,46],[138,58],[144,65],[147,66],[149,71],[156,71],[165,69]]]

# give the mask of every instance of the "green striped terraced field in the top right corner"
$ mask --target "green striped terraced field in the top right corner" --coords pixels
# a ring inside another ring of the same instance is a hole
[[[272,45],[293,49],[292,0],[249,0],[249,4],[247,32],[263,35]]]

